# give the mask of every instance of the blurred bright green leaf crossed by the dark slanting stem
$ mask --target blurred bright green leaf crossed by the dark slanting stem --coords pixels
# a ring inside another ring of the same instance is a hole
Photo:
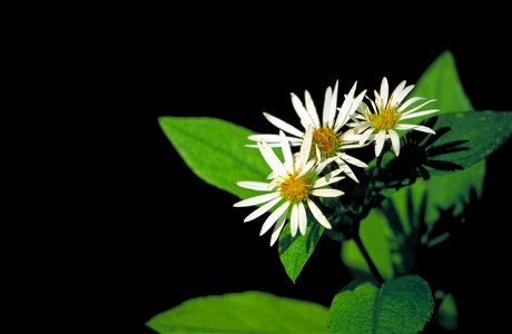
[[[393,232],[386,223],[386,217],[380,210],[372,210],[361,222],[361,238],[366,247],[378,273],[384,278],[393,277],[393,265],[390,239]],[[356,278],[372,277],[370,267],[354,240],[346,240],[342,245],[342,259]]]

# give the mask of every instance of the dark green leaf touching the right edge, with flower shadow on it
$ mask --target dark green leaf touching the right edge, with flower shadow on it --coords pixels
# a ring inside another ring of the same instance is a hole
[[[435,128],[451,128],[434,143],[442,146],[465,140],[466,150],[440,155],[436,159],[454,163],[466,168],[481,161],[496,150],[512,135],[512,112],[510,111],[463,111],[450,112],[439,117]],[[432,175],[446,173],[430,169]]]

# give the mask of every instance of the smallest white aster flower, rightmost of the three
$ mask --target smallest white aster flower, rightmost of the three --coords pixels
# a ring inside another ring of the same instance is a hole
[[[387,138],[391,139],[393,150],[396,156],[400,154],[400,138],[395,130],[417,130],[435,135],[431,128],[421,125],[403,124],[403,120],[437,112],[439,109],[421,110],[424,106],[435,100],[426,100],[422,97],[413,97],[404,100],[405,97],[413,90],[414,85],[405,87],[405,80],[402,81],[395,90],[388,96],[387,79],[384,77],[381,84],[381,92],[375,90],[375,101],[370,99],[372,105],[371,110],[364,102],[361,104],[355,122],[347,124],[353,127],[356,134],[361,134],[360,144],[364,145],[366,140],[375,140],[375,156],[380,156],[384,143]],[[426,100],[423,104],[406,110],[411,105]],[[404,101],[404,102],[402,102]]]

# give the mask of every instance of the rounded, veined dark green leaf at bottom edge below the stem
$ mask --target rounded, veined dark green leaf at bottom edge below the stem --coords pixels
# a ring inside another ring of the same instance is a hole
[[[334,297],[331,333],[417,333],[432,315],[432,293],[419,276],[387,281],[381,288],[370,282],[349,284]]]

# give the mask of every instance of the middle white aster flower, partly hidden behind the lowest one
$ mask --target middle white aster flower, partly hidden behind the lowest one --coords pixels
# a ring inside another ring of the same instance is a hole
[[[334,160],[343,168],[343,171],[345,171],[345,174],[355,181],[358,181],[346,163],[363,168],[367,167],[367,165],[360,159],[347,155],[344,150],[361,147],[361,145],[357,144],[360,137],[356,136],[353,130],[345,132],[342,131],[342,127],[356,111],[366,92],[365,90],[354,97],[356,86],[357,82],[354,84],[351,91],[345,96],[342,107],[337,109],[337,81],[334,87],[334,92],[331,87],[327,87],[325,91],[322,122],[318,118],[318,114],[316,112],[313,99],[307,90],[305,91],[305,105],[303,105],[295,94],[292,94],[292,104],[301,118],[301,124],[304,129],[313,127],[313,147],[318,147],[323,158],[335,157]],[[336,110],[338,111],[337,116]],[[303,143],[305,136],[304,131],[270,114],[263,112],[263,115],[270,124],[288,134],[287,139],[292,143],[292,146],[298,146]],[[278,147],[280,145],[280,138],[278,135],[253,135],[249,136],[249,139],[255,141],[266,141],[270,147]]]

